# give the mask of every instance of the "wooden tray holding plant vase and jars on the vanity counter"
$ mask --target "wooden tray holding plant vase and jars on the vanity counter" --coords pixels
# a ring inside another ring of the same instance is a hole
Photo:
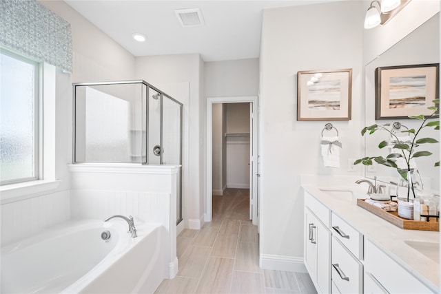
[[[407,220],[398,216],[398,211],[388,212],[380,207],[365,202],[364,199],[357,199],[357,205],[379,216],[383,220],[387,220],[397,227],[405,230],[419,230],[419,231],[440,231],[440,223],[438,218],[430,218],[429,222],[420,220]]]

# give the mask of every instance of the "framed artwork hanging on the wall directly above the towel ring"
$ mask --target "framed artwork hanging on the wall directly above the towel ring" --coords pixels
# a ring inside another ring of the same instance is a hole
[[[297,73],[297,120],[350,120],[352,69]]]

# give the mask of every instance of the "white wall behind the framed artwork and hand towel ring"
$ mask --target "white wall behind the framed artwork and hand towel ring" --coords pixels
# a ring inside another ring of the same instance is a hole
[[[260,48],[260,262],[302,266],[300,174],[349,174],[348,158],[363,145],[360,1],[264,10]],[[340,133],[339,169],[323,167],[324,121],[297,121],[297,72],[352,68],[352,120],[332,121]],[[361,175],[361,169],[351,175]],[[279,268],[280,269],[280,268]]]

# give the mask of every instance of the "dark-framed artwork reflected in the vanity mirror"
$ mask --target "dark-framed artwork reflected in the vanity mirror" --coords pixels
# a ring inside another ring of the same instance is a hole
[[[429,115],[439,97],[439,63],[377,67],[375,118]]]

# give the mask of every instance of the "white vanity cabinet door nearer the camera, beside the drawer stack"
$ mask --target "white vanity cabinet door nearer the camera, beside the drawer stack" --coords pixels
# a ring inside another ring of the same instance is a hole
[[[317,222],[317,284],[322,293],[331,293],[331,231]]]

